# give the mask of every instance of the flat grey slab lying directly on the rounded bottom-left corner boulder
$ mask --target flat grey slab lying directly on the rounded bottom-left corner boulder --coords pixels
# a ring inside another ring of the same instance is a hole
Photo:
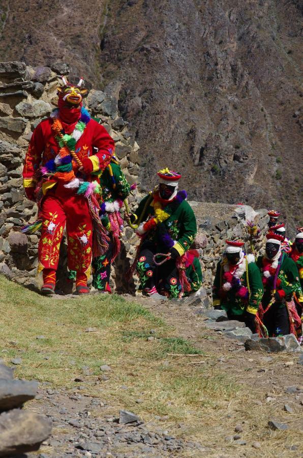
[[[37,394],[38,383],[0,379],[0,411],[21,407]]]

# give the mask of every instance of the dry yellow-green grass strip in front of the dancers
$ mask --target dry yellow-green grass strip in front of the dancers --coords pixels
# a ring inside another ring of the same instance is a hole
[[[172,434],[201,443],[207,448],[204,456],[301,456],[299,449],[285,448],[300,447],[298,412],[288,414],[288,431],[270,431],[267,421],[277,416],[277,409],[255,404],[260,394],[253,381],[248,389],[232,370],[223,373],[216,348],[199,355],[190,342],[143,306],[115,295],[44,298],[3,278],[0,291],[2,357],[10,363],[12,357],[21,356],[17,377],[73,389],[81,367],[89,366],[93,373],[85,377],[83,394],[100,397],[112,406],[103,409],[102,415],[115,415],[119,408],[131,410],[146,423],[161,423]],[[97,331],[85,332],[87,327]],[[39,335],[45,339],[37,339]],[[153,341],[147,341],[150,335]],[[193,354],[199,356],[189,356]],[[105,363],[112,370],[109,380],[100,384],[100,366]],[[142,403],[136,403],[138,398]],[[92,415],[101,411],[93,410]],[[245,447],[224,440],[235,434],[234,426],[241,421],[245,422],[241,434]],[[261,450],[251,447],[254,441],[261,443]],[[188,449],[180,456],[201,456],[201,451]]]

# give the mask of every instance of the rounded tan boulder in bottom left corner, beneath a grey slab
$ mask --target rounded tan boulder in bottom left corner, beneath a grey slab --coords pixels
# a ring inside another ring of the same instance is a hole
[[[0,415],[0,456],[37,451],[51,433],[51,420],[36,412],[13,409]]]

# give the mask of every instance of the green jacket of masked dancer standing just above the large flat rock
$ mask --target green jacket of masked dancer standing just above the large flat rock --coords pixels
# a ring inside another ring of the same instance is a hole
[[[301,285],[299,281],[299,273],[295,262],[287,256],[286,253],[282,252],[282,264],[279,270],[278,278],[281,280],[279,286],[277,286],[277,291],[283,290],[285,294],[285,300],[290,301],[292,298],[293,293],[296,295],[300,295]],[[263,263],[262,263],[263,256],[259,256],[257,259],[257,266],[262,274],[263,271]],[[264,295],[262,299],[262,306],[263,308],[266,307],[272,297],[272,289],[274,288],[273,281],[269,286],[264,287]],[[284,307],[284,303],[277,302],[277,305],[280,308]]]

